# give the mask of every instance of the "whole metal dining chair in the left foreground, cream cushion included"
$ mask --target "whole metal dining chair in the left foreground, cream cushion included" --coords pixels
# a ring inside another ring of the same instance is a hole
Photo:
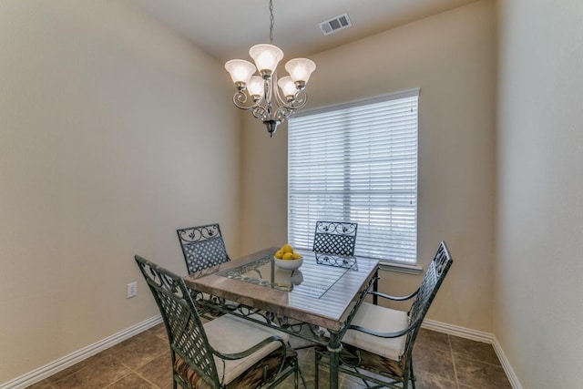
[[[203,323],[181,277],[135,260],[166,326],[173,388],[271,388],[291,374],[298,387],[302,375],[289,335],[230,314]]]

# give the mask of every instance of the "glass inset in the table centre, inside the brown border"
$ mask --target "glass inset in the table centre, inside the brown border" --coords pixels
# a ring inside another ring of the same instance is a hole
[[[303,251],[302,266],[297,270],[281,269],[272,255],[220,271],[221,277],[249,282],[292,295],[320,299],[347,271],[357,270],[356,261],[329,254]]]

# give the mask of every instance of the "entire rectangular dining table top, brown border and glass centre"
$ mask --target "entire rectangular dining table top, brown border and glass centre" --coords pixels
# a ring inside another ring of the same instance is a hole
[[[298,250],[302,266],[286,271],[273,263],[278,249],[263,249],[184,280],[194,290],[337,331],[378,267],[373,259]]]

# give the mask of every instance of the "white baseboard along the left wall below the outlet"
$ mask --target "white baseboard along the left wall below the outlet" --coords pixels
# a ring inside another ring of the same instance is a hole
[[[132,325],[119,333],[107,336],[107,338],[97,343],[90,344],[75,353],[70,353],[54,362],[47,363],[32,372],[16,377],[14,380],[0,384],[0,389],[22,389],[32,384],[36,384],[37,382],[44,380],[46,377],[63,371],[75,363],[79,363],[96,353],[100,353],[115,344],[137,335],[138,333],[142,333],[160,322],[162,322],[162,317],[160,315],[149,318],[144,322],[138,322],[136,325]]]

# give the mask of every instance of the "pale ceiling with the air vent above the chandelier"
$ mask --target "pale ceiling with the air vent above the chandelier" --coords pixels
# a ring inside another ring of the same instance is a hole
[[[176,29],[210,56],[250,59],[249,48],[269,43],[268,0],[129,0]],[[311,56],[365,36],[476,0],[273,0],[273,44],[283,61]],[[328,36],[320,22],[348,13],[352,27]]]

